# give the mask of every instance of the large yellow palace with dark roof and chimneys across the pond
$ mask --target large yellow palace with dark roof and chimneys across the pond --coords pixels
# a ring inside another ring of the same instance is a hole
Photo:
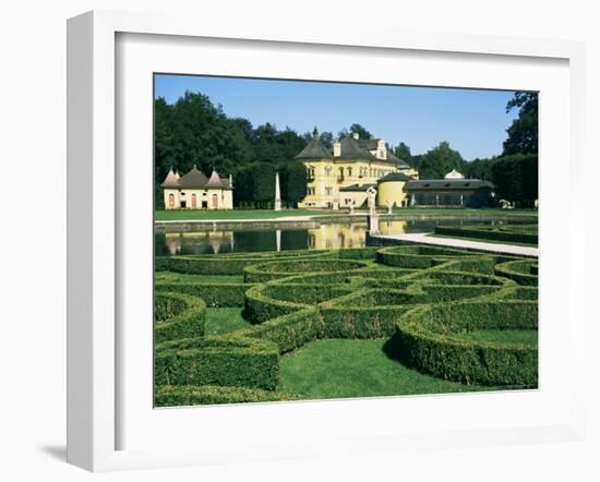
[[[338,209],[360,207],[367,203],[367,190],[383,179],[393,179],[395,195],[386,196],[396,206],[408,205],[403,184],[419,178],[419,172],[395,156],[383,138],[360,138],[358,134],[344,137],[327,149],[315,128],[312,141],[296,156],[307,167],[307,196],[299,207]],[[377,204],[383,205],[380,200]]]

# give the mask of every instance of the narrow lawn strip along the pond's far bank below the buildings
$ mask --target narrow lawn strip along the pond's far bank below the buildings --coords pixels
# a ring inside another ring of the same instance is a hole
[[[357,214],[367,214],[367,210],[356,210]],[[386,210],[380,209],[380,214]],[[423,216],[538,216],[535,209],[440,209],[440,208],[407,208],[394,209],[395,215]],[[347,215],[346,210],[309,210],[309,209],[231,209],[231,210],[197,210],[173,209],[155,210],[155,219],[160,220],[231,220],[231,219],[276,219],[290,216],[339,216]]]

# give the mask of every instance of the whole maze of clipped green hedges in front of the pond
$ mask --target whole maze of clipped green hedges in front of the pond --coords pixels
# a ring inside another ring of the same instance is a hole
[[[280,360],[317,339],[386,339],[397,363],[467,385],[538,383],[537,344],[518,337],[538,329],[537,260],[406,245],[159,257],[156,268],[156,406],[301,399],[280,389]],[[243,308],[251,325],[205,335],[206,306]],[[502,330],[516,339],[494,339]]]

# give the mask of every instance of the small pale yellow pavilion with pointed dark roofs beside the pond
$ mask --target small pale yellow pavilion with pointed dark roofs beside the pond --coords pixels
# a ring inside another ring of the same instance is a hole
[[[196,166],[179,176],[170,169],[163,184],[165,209],[232,209],[233,181],[213,170],[207,178]]]

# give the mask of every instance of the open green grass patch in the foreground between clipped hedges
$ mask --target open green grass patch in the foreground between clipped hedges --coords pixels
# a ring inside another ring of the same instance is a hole
[[[311,398],[441,394],[492,389],[429,376],[384,352],[386,340],[316,340],[281,359],[281,389]]]

